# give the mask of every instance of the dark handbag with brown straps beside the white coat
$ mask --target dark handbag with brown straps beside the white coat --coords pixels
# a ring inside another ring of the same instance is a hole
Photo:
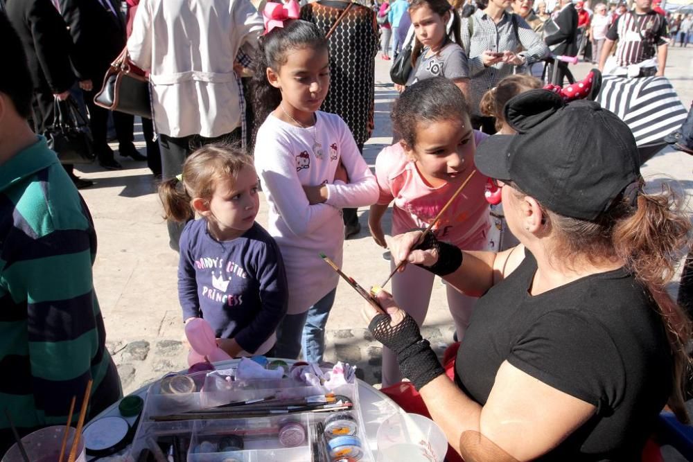
[[[149,80],[135,69],[125,48],[106,72],[94,103],[111,111],[152,118]]]

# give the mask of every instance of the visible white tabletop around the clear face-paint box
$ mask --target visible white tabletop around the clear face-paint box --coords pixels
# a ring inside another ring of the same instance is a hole
[[[274,358],[269,359],[271,361]],[[295,362],[287,359],[282,360],[286,361],[288,364],[292,364],[293,362]],[[231,368],[232,366],[238,364],[239,361],[240,359],[229,359],[228,361],[216,362],[214,363],[214,366],[217,369]],[[181,371],[181,373],[186,372],[187,371]],[[396,402],[391,400],[387,395],[385,395],[385,393],[382,393],[379,390],[374,389],[362,380],[357,379],[357,382],[358,404],[361,410],[363,424],[366,429],[366,439],[369,447],[371,448],[371,452],[373,453],[374,458],[377,460],[378,445],[376,444],[376,434],[378,433],[378,427],[380,427],[380,424],[383,423],[383,421],[387,419],[389,416],[401,412],[402,410],[396,404]],[[150,386],[151,384],[146,384],[144,387],[137,389],[131,394],[141,396],[141,398],[144,399],[146,398],[147,390]],[[107,409],[98,414],[98,416],[91,419],[91,422],[107,416],[120,416],[121,414],[118,411],[119,402],[120,401],[114,402],[114,404],[107,407]],[[125,420],[128,420],[130,425],[134,423],[135,419],[136,417],[125,418]],[[125,452],[127,452],[129,449],[130,447],[128,447],[128,449],[126,450],[121,451],[119,454],[125,454]],[[119,454],[114,454],[114,456],[112,457],[119,457]],[[99,460],[107,461],[108,459],[108,457],[105,457]],[[89,459],[89,456],[87,456],[87,460],[91,460]]]

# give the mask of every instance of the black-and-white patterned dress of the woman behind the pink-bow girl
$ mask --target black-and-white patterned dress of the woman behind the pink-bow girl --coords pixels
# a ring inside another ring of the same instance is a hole
[[[301,19],[327,34],[347,5],[346,1],[335,0],[308,3],[301,8]],[[321,109],[342,117],[359,146],[368,141],[374,127],[378,34],[375,12],[353,3],[328,39],[330,91]]]

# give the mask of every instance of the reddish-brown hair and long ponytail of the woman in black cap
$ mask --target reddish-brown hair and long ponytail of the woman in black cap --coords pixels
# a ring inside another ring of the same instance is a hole
[[[571,261],[581,256],[593,264],[620,261],[647,289],[667,332],[674,361],[672,393],[668,405],[676,418],[689,421],[683,390],[690,359],[687,345],[691,321],[667,292],[676,265],[690,249],[691,224],[683,213],[683,201],[671,188],[645,193],[644,181],[624,188],[620,197],[597,220],[587,221],[549,212],[559,239],[554,258]]]

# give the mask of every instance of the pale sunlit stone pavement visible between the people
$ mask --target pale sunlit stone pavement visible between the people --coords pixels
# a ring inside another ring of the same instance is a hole
[[[364,151],[371,167],[392,138],[389,111],[396,91],[389,81],[388,64],[376,57],[376,129]],[[576,78],[581,78],[590,66],[578,64],[572,69]],[[693,100],[692,75],[693,48],[670,49],[667,76],[687,107]],[[141,127],[137,125],[135,131],[139,132],[137,146],[144,153]],[[78,175],[95,181],[93,187],[82,190],[98,233],[94,285],[105,319],[107,346],[128,393],[169,371],[186,368],[186,348],[181,341],[182,314],[176,289],[178,258],[168,247],[155,181],[143,163],[118,160],[124,170],[104,172],[98,166],[82,166]],[[643,168],[646,177],[680,186],[689,193],[692,172],[693,157],[668,149]],[[344,272],[370,287],[383,281],[389,262],[369,236],[368,209],[362,208],[359,215],[362,232],[344,243]],[[385,220],[389,221],[389,215]],[[267,223],[264,199],[258,222],[263,226]],[[389,223],[384,229],[389,229]],[[381,347],[369,335],[360,315],[363,303],[351,287],[340,282],[327,324],[325,359],[357,364],[363,378],[377,384]],[[453,330],[444,286],[436,282],[423,335],[442,352],[452,341]]]

